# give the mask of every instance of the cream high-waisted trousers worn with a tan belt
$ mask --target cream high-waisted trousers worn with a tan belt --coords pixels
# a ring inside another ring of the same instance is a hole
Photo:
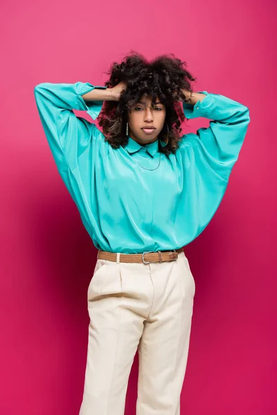
[[[79,415],[124,415],[139,352],[136,415],[179,415],[195,279],[183,252],[143,263],[97,259],[87,291],[89,336]]]

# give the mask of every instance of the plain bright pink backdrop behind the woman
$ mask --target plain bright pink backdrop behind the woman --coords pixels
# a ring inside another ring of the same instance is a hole
[[[78,414],[87,357],[97,250],[55,168],[33,88],[103,84],[131,49],[174,53],[197,76],[195,91],[242,102],[251,117],[220,208],[185,248],[196,295],[181,414],[276,414],[275,16],[273,0],[2,3],[1,414]],[[208,120],[183,132],[198,127]],[[137,374],[136,355],[127,415]]]

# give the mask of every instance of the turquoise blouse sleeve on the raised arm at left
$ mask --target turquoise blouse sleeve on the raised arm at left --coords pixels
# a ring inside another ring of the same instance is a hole
[[[107,86],[93,86],[89,82],[42,82],[35,86],[39,117],[59,172],[74,169],[91,140],[101,136],[94,123],[73,113],[76,109],[87,111],[93,120],[98,117],[103,101],[84,101],[81,96],[94,88],[106,89]]]

